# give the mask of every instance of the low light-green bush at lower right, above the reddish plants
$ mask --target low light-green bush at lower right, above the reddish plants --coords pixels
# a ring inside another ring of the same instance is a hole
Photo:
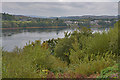
[[[82,55],[80,52],[72,52],[70,55],[70,68],[75,70],[76,73],[83,75],[90,75],[100,73],[106,67],[114,65],[115,55],[112,53],[104,53],[105,55]],[[104,57],[103,57],[104,56]]]

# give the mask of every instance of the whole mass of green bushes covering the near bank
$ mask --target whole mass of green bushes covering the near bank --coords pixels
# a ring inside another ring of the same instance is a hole
[[[2,51],[3,78],[118,78],[118,23],[108,32],[82,28],[64,38]],[[113,68],[114,67],[114,68]]]

